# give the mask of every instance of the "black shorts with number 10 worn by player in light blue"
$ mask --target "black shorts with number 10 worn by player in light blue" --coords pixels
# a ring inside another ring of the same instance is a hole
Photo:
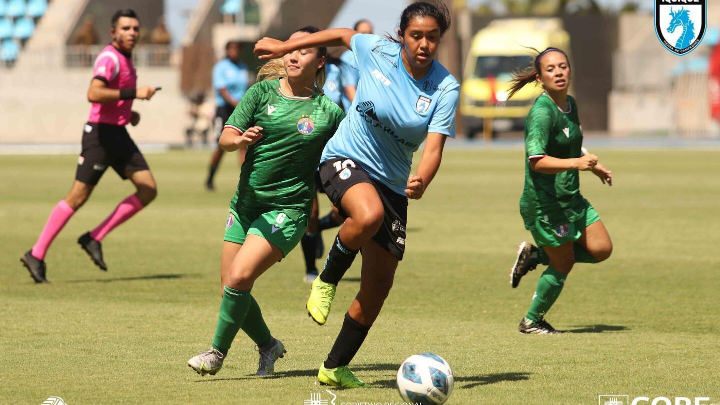
[[[340,168],[338,170],[338,167]],[[320,179],[323,189],[330,201],[340,210],[340,215],[347,217],[341,207],[343,195],[358,183],[370,183],[375,186],[382,200],[385,218],[379,231],[372,237],[382,249],[402,260],[405,253],[405,227],[408,223],[408,197],[397,194],[385,184],[370,177],[367,172],[351,159],[330,159],[320,164]]]

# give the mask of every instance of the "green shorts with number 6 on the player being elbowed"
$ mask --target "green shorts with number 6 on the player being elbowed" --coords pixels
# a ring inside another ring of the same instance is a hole
[[[230,209],[225,224],[225,241],[245,243],[250,235],[261,236],[282,251],[286,257],[305,234],[307,216],[300,210],[285,209],[266,213],[238,214]]]

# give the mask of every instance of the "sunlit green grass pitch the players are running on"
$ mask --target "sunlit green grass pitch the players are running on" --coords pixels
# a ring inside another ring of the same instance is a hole
[[[516,290],[508,285],[516,246],[530,238],[518,213],[522,151],[450,149],[426,197],[410,202],[405,260],[352,364],[372,388],[333,389],[336,405],[402,401],[397,367],[423,351],[453,367],[449,404],[594,405],[601,394],[720,403],[717,151],[593,153],[616,184],[582,174],[582,190],[615,250],[602,264],[578,264],[547,317],[575,333],[516,331],[541,272]],[[48,396],[70,405],[301,405],[318,392],[330,399],[317,368],[359,288],[359,260],[323,327],[304,310],[299,248],[258,280],[253,295],[288,350],[273,378],[253,375],[257,354],[242,331],[215,377],[186,367],[215,331],[220,247],[238,173],[226,156],[219,190],[205,192],[208,159],[148,155],[158,200],[104,240],[106,273],[76,239],[132,191],[108,171],[50,249],[51,283],[35,285],[19,257],[68,191],[76,157],[0,157],[1,404]],[[326,244],[333,235],[325,233]]]

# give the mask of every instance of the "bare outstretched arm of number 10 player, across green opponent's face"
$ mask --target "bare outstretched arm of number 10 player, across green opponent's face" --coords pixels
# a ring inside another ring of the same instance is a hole
[[[282,55],[291,53],[294,50],[318,46],[346,46],[350,48],[350,40],[355,34],[357,34],[357,31],[350,28],[331,28],[330,30],[314,32],[287,41],[264,37],[255,44],[253,53],[258,56],[258,59],[265,61],[280,58]]]

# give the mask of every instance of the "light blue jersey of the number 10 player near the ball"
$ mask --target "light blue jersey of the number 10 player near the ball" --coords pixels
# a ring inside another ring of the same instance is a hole
[[[402,65],[400,44],[372,34],[351,40],[360,81],[351,108],[320,161],[348,158],[405,195],[413,152],[428,133],[455,137],[459,84],[437,61],[423,79]]]

